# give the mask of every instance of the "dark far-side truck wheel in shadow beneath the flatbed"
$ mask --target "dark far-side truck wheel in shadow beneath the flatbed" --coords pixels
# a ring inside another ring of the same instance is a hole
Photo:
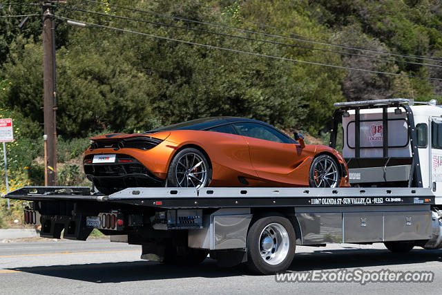
[[[167,265],[199,265],[206,259],[209,250],[189,247],[167,247],[163,263]]]

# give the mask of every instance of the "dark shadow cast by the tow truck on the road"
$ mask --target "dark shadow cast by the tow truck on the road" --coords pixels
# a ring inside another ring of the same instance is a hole
[[[388,268],[404,265],[442,261],[442,250],[414,249],[407,254],[392,254],[379,249],[317,250],[314,253],[296,254],[289,271],[311,269],[341,269],[353,267]],[[42,276],[82,280],[90,283],[120,283],[137,280],[164,280],[172,278],[222,278],[248,274],[242,267],[220,268],[215,260],[207,258],[197,266],[162,265],[151,261],[130,263],[95,263],[79,265],[52,265],[47,267],[10,268]]]

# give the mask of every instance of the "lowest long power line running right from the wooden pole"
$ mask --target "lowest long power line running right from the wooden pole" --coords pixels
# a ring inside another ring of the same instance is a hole
[[[75,21],[77,23],[81,23],[80,21],[78,21],[76,19],[69,19],[68,17],[59,17],[59,16],[54,16],[54,17],[57,18],[57,19],[61,19],[61,20]],[[394,75],[394,76],[401,76],[401,77],[408,77],[408,78],[419,78],[419,79],[429,79],[429,80],[435,80],[435,81],[442,81],[442,79],[432,78],[432,77],[420,77],[420,76],[403,75],[403,74],[397,74],[397,73],[381,72],[381,71],[377,71],[377,70],[365,70],[365,69],[361,69],[361,68],[349,68],[349,67],[345,67],[345,66],[335,66],[335,65],[331,65],[331,64],[321,64],[321,63],[317,63],[317,62],[313,62],[313,61],[302,61],[302,60],[298,60],[298,59],[289,59],[287,57],[276,57],[276,56],[273,56],[273,55],[263,55],[263,54],[260,54],[260,53],[251,53],[249,51],[236,50],[236,49],[232,49],[232,48],[224,48],[224,47],[213,46],[213,45],[209,45],[209,44],[200,44],[200,43],[195,43],[195,42],[191,42],[191,41],[184,41],[184,40],[181,40],[181,39],[173,39],[173,38],[169,38],[169,37],[162,37],[162,36],[157,36],[157,35],[146,34],[144,32],[136,32],[136,31],[133,31],[133,30],[126,30],[126,29],[122,29],[122,28],[114,28],[114,27],[111,27],[111,26],[99,25],[97,23],[90,23],[90,22],[87,22],[87,21],[83,21],[83,23],[86,23],[88,26],[91,26],[91,27],[106,28],[106,29],[110,29],[110,30],[116,30],[116,31],[119,31],[119,32],[129,32],[129,33],[136,34],[136,35],[142,35],[142,36],[152,37],[152,38],[156,38],[156,39],[163,39],[163,40],[166,40],[166,41],[174,41],[174,42],[179,42],[179,43],[182,43],[182,44],[189,44],[189,45],[195,45],[195,46],[202,46],[202,47],[206,47],[206,48],[225,50],[225,51],[230,51],[230,52],[233,52],[233,53],[243,53],[243,54],[254,55],[254,56],[258,56],[258,57],[267,57],[267,58],[271,58],[271,59],[279,59],[279,60],[284,60],[284,61],[294,61],[294,62],[298,62],[298,63],[302,63],[302,64],[313,64],[313,65],[316,65],[316,66],[327,66],[329,68],[340,68],[340,69],[345,69],[345,70],[357,70],[357,71],[361,71],[361,72],[375,73],[375,74],[382,74],[382,75]]]

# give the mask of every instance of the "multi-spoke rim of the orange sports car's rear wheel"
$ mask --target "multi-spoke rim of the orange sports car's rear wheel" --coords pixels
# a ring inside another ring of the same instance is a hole
[[[178,187],[204,187],[207,181],[207,167],[198,153],[185,153],[178,159],[175,169]]]

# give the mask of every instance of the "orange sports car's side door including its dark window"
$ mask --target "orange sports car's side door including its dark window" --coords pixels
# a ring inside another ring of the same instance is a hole
[[[251,164],[260,178],[296,183],[291,173],[302,155],[294,141],[264,124],[236,122],[233,126],[249,144]]]

